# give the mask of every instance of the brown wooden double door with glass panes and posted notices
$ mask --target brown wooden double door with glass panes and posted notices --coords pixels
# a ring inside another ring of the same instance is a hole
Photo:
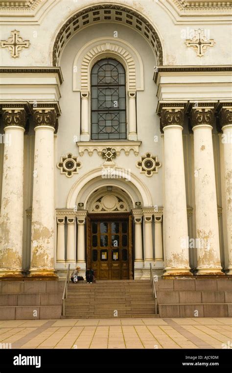
[[[91,214],[87,220],[87,265],[98,280],[133,279],[132,217]]]

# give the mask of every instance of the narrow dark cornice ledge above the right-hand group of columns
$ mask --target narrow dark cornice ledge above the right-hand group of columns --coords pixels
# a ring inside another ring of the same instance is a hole
[[[189,73],[218,73],[218,72],[230,72],[232,71],[231,65],[225,66],[158,66],[155,69],[153,80],[157,84],[158,77],[160,74],[173,75],[173,73],[178,75],[185,75]]]

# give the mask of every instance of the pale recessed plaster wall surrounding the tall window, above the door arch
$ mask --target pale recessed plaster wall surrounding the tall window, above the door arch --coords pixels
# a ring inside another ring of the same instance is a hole
[[[61,86],[60,106],[62,115],[59,117],[59,129],[57,136],[57,154],[56,160],[59,162],[61,155],[66,155],[71,152],[73,155],[78,155],[78,147],[73,141],[74,136],[79,136],[80,133],[80,93],[72,91],[72,67],[73,60],[79,48],[89,42],[94,35],[94,38],[102,36],[111,36],[115,30],[115,24],[93,25],[81,31],[74,36],[67,47],[64,49],[61,58],[61,69],[64,76],[64,83]],[[140,156],[146,152],[151,152],[157,155],[162,162],[162,147],[160,133],[160,119],[155,114],[157,105],[156,91],[157,87],[153,82],[154,72],[154,57],[150,46],[144,43],[144,39],[135,31],[128,27],[118,26],[118,37],[124,38],[128,43],[135,47],[142,58],[144,65],[144,91],[137,93],[137,125],[138,125],[138,140],[142,143],[139,148],[139,155],[135,156],[131,150],[129,156],[126,156],[122,150],[120,156],[116,157],[116,164],[119,167],[127,168],[137,175],[142,182],[149,188],[152,195],[153,205],[162,205],[162,167],[159,172],[153,174],[152,177],[147,177],[140,173],[140,169],[136,167],[136,162],[140,160]],[[128,116],[127,116],[128,120]],[[158,142],[154,142],[154,136],[158,136]],[[107,145],[107,142],[106,142]],[[89,172],[93,168],[101,166],[104,160],[99,157],[94,151],[90,157],[85,151],[84,156],[79,160],[83,166],[79,169],[79,174],[67,178],[60,174],[60,170],[56,168],[56,183],[57,183],[57,207],[66,207],[68,193],[74,182],[83,174]]]

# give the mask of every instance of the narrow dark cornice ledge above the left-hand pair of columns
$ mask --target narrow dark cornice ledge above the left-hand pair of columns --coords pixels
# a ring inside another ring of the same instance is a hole
[[[27,67],[0,67],[0,74],[57,74],[60,84],[63,83],[63,75],[60,67],[36,67],[36,68],[27,68]]]

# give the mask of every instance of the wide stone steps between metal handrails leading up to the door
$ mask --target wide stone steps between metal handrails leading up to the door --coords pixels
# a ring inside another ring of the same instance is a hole
[[[149,280],[97,280],[68,284],[62,319],[159,317]]]

